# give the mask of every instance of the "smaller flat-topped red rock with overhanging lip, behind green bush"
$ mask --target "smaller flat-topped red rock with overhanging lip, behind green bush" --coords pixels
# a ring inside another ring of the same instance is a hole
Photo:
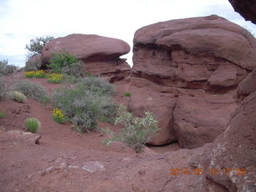
[[[64,38],[56,38],[43,47],[42,66],[49,63],[51,54],[63,51],[85,62],[86,72],[93,74],[111,75],[130,70],[127,62],[119,58],[130,52],[130,46],[117,38],[95,34],[70,34]]]

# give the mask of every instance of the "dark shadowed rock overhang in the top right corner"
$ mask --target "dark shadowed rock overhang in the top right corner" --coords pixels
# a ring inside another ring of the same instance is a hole
[[[234,10],[246,18],[246,21],[250,20],[256,24],[256,2],[254,0],[229,0]]]

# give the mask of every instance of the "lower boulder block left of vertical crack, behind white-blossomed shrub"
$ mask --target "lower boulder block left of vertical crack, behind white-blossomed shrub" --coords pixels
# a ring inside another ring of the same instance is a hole
[[[158,136],[154,138],[153,145],[163,145],[176,141],[173,127],[173,113],[178,92],[173,89],[158,86],[144,78],[131,78],[129,108],[139,117],[146,111],[153,112],[158,118]]]

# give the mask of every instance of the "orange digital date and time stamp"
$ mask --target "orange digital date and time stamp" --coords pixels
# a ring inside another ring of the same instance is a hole
[[[211,168],[211,169],[202,169],[202,168],[172,168],[170,169],[169,175],[246,175],[245,168]]]

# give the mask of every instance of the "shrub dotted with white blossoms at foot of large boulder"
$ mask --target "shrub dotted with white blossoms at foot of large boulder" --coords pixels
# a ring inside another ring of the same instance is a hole
[[[146,112],[144,118],[134,118],[133,114],[126,111],[125,106],[120,106],[118,109],[118,118],[116,118],[115,125],[121,125],[120,134],[115,134],[110,130],[104,130],[108,134],[114,135],[113,138],[106,139],[104,142],[109,146],[113,142],[124,142],[130,146],[136,153],[142,153],[147,142],[157,134],[158,121],[150,112]]]

